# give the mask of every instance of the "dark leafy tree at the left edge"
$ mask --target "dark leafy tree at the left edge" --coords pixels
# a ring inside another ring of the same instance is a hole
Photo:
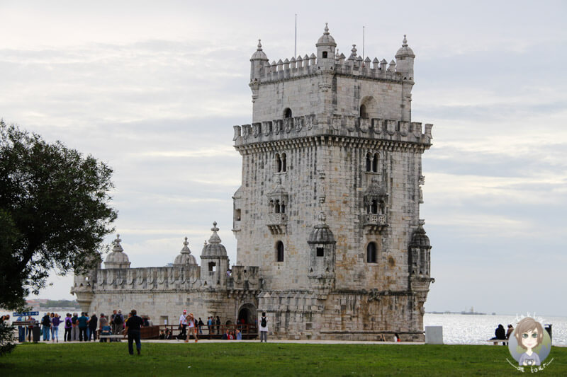
[[[23,306],[50,272],[96,267],[117,213],[112,169],[0,120],[0,307]]]

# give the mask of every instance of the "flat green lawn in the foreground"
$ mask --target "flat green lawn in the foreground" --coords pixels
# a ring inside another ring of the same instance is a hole
[[[507,347],[404,344],[21,344],[0,376],[512,376]],[[567,348],[553,347],[539,374],[567,376]],[[191,366],[191,368],[189,368]],[[526,367],[527,368],[527,367]],[[527,368],[527,373],[530,373]],[[522,374],[522,373],[520,373]]]

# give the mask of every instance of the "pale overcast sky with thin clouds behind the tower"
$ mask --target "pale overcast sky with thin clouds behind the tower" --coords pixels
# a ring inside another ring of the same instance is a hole
[[[433,123],[420,218],[426,311],[565,315],[565,1],[0,1],[0,117],[114,170],[132,267],[198,257],[213,221],[236,262],[232,126],[252,120],[249,58],[416,54],[412,121]],[[108,237],[108,243],[116,235]],[[40,298],[72,299],[53,272]]]

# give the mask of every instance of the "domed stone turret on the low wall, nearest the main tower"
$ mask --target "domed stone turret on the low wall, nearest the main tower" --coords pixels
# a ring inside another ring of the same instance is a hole
[[[229,261],[226,248],[220,243],[220,237],[217,234],[219,229],[216,221],[213,222],[213,228],[210,230],[213,231],[213,234],[208,239],[208,243],[203,246],[201,253],[201,264],[206,271],[202,276],[209,286],[225,286]]]

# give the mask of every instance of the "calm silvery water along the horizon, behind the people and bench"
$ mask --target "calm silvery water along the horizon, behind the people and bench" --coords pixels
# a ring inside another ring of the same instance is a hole
[[[44,312],[36,315],[40,320]],[[1,313],[6,314],[6,313]],[[9,313],[11,314],[11,313]],[[64,313],[60,313],[64,314]],[[551,323],[553,325],[553,344],[567,346],[567,318],[548,317],[544,318],[542,325]],[[15,320],[15,318],[11,318]],[[498,324],[504,327],[510,323],[516,326],[515,315],[464,315],[464,314],[432,314],[425,313],[424,326],[443,326],[443,342],[445,344],[488,344],[485,342],[494,336],[494,330]],[[63,340],[64,325],[59,326],[60,342]]]

